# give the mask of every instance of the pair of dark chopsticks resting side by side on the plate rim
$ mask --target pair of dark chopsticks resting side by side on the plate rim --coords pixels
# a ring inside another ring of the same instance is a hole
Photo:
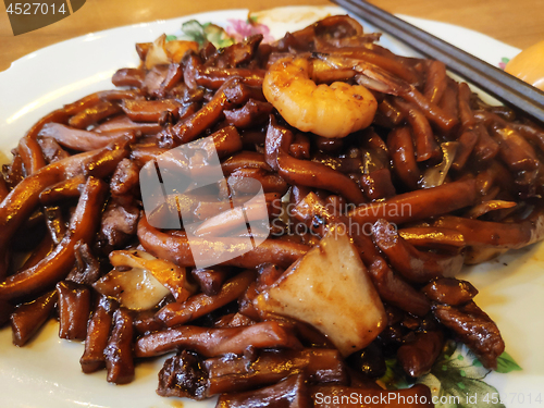
[[[332,0],[358,17],[387,32],[424,55],[440,60],[463,77],[512,108],[544,123],[544,92],[479,58],[407,23],[363,0]]]

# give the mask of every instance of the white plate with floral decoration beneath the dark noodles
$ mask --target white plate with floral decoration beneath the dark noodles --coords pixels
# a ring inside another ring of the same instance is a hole
[[[327,14],[344,14],[338,8],[282,8],[254,13],[262,30],[272,37],[295,30]],[[39,118],[63,103],[100,89],[112,88],[111,75],[120,67],[136,66],[135,42],[151,41],[159,35],[180,33],[183,22],[196,18],[244,33],[247,10],[201,13],[169,21],[136,24],[91,33],[33,52],[0,73],[0,151],[8,162],[10,149]],[[449,41],[470,53],[499,65],[518,49],[482,34],[432,21],[401,16],[408,22]],[[371,24],[363,22],[367,32]],[[380,44],[394,52],[417,55],[410,48],[384,35]],[[509,354],[502,360],[505,373],[487,373],[478,361],[458,347],[444,366],[457,370],[463,379],[454,384],[467,397],[479,393],[474,407],[542,407],[544,395],[544,246],[533,245],[510,251],[497,260],[467,268],[461,279],[480,290],[477,302],[498,324]],[[126,407],[172,408],[213,407],[214,401],[194,403],[156,395],[157,374],[164,358],[137,366],[136,380],[114,386],[106,382],[106,372],[83,374],[79,357],[83,345],[61,341],[58,324],[50,321],[27,346],[11,344],[11,331],[0,331],[0,406],[11,408]],[[456,361],[465,361],[458,363]],[[465,364],[465,366],[463,366]],[[518,368],[521,368],[519,371]],[[469,381],[470,380],[470,381]],[[438,391],[436,378],[425,379]],[[498,393],[496,396],[494,393]],[[489,403],[484,398],[487,395]],[[447,406],[447,405],[444,405]]]

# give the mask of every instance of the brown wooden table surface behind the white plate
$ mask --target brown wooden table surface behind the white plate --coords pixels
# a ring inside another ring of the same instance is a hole
[[[544,40],[543,0],[371,0],[392,13],[436,20],[486,34],[518,48]],[[268,9],[271,5],[332,4],[326,0],[87,0],[81,10],[50,26],[13,36],[8,14],[0,5],[0,71],[37,49],[87,33],[111,27],[172,18],[202,11]],[[437,5],[440,4],[440,5]]]

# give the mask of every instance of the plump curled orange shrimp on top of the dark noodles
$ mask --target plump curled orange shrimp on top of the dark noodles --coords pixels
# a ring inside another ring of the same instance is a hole
[[[341,138],[372,123],[378,102],[366,87],[342,82],[317,85],[312,74],[311,60],[287,57],[264,75],[264,97],[289,125]]]

